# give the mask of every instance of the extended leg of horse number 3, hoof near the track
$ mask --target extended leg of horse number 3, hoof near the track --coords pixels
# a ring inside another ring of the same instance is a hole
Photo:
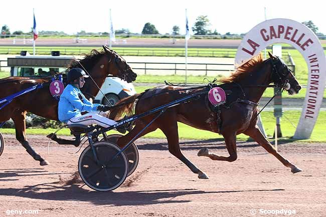
[[[17,110],[12,115],[12,119],[16,128],[16,139],[26,148],[26,151],[35,159],[40,161],[41,166],[49,165],[49,162],[44,160],[41,155],[34,151],[29,142],[26,140],[26,111]]]

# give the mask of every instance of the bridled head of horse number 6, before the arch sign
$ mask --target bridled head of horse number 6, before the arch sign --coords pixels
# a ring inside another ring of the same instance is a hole
[[[273,56],[268,52],[272,65],[272,81],[274,84],[283,88],[290,95],[297,94],[301,89],[299,82],[296,80],[292,71],[284,63],[284,61],[277,56]]]

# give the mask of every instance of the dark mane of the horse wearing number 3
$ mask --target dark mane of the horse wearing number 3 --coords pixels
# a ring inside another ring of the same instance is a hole
[[[82,54],[85,56],[83,59],[72,60],[70,64],[67,66],[67,69],[69,70],[72,68],[82,68],[80,66],[81,64],[86,70],[89,70],[94,65],[94,63],[96,63],[104,54],[105,51],[103,50],[97,51],[96,49],[92,49],[90,53]]]

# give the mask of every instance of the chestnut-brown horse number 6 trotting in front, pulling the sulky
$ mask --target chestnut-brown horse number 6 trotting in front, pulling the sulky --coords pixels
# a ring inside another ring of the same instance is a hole
[[[257,126],[258,102],[270,83],[286,88],[289,94],[296,94],[301,89],[297,80],[285,63],[270,54],[270,58],[263,61],[262,56],[256,56],[242,64],[228,78],[221,80],[220,85],[230,93],[227,96],[226,104],[220,107],[221,123],[218,126],[217,113],[212,111],[207,103],[207,96],[203,95],[199,99],[192,100],[185,104],[169,108],[164,114],[158,117],[148,128],[138,137],[159,128],[167,137],[169,151],[184,162],[199,178],[208,176],[189,161],[181,152],[179,146],[178,124],[182,122],[192,127],[219,132],[225,139],[226,148],[230,156],[219,156],[203,148],[198,152],[198,156],[207,156],[213,160],[235,161],[237,159],[236,135],[244,133],[253,138],[258,144],[263,146],[269,153],[273,154],[285,166],[291,168],[291,172],[301,171],[294,164],[281,156],[274,147],[266,140]],[[139,114],[149,109],[158,107],[168,102],[180,99],[207,90],[206,87],[190,89],[178,86],[156,87],[143,94],[137,94],[129,98],[122,99],[117,105],[121,107],[112,109],[110,118],[119,119],[121,113],[131,113],[134,100],[138,100],[135,105],[135,113]],[[144,128],[157,114],[146,116],[135,121],[135,127],[131,132],[122,136],[117,144],[123,147],[134,138],[141,129]]]

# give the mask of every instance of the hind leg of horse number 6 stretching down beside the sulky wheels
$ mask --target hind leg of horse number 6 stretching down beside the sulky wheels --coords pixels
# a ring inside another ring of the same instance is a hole
[[[198,174],[198,178],[208,179],[208,175],[194,165],[183,155],[179,144],[178,122],[175,117],[176,113],[169,113],[169,118],[162,118],[160,121],[168,120],[159,124],[159,129],[166,135],[168,139],[169,151],[184,164],[186,164],[193,173]]]

